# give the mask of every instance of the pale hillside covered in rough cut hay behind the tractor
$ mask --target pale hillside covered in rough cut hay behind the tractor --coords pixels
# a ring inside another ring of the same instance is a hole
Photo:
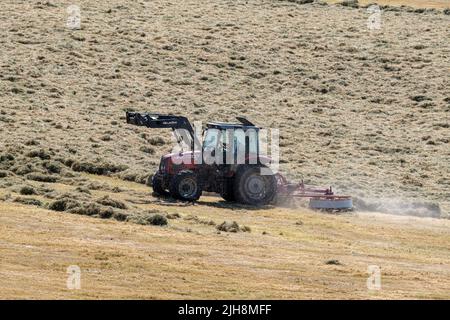
[[[170,132],[124,110],[205,123],[244,115],[281,133],[282,170],[362,199],[449,213],[450,66],[442,11],[287,1],[0,4],[0,149],[127,165],[148,175]],[[155,137],[159,137],[156,139]]]

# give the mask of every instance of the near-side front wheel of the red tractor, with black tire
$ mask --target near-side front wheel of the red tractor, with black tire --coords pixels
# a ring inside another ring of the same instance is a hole
[[[183,201],[196,201],[202,195],[202,187],[197,175],[190,170],[178,172],[170,181],[170,195]]]

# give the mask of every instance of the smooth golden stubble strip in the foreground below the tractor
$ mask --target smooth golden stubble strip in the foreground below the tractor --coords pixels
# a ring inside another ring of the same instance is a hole
[[[238,209],[208,197],[140,206],[179,218],[140,226],[0,202],[0,297],[449,298],[447,220]],[[219,234],[199,220],[237,221],[251,232]],[[69,265],[82,269],[81,290],[66,289]],[[379,292],[366,288],[368,265],[382,269]]]

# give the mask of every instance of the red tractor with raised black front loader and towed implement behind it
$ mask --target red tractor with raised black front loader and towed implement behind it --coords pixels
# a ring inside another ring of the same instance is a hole
[[[317,209],[350,209],[351,198],[336,196],[330,188],[289,183],[273,172],[271,159],[260,154],[260,128],[245,118],[239,123],[207,123],[203,141],[186,117],[127,112],[127,123],[149,128],[171,128],[187,151],[161,157],[152,177],[153,191],[183,201],[196,201],[203,191],[220,194],[226,201],[252,206],[275,198],[310,198]]]

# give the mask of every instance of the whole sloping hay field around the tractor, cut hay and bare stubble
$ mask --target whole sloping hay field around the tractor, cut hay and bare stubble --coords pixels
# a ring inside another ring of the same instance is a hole
[[[449,220],[408,216],[450,214],[445,2],[376,31],[299,2],[82,0],[71,30],[70,1],[2,1],[0,297],[448,298]],[[125,110],[279,129],[281,171],[358,210],[157,199],[171,134]]]

